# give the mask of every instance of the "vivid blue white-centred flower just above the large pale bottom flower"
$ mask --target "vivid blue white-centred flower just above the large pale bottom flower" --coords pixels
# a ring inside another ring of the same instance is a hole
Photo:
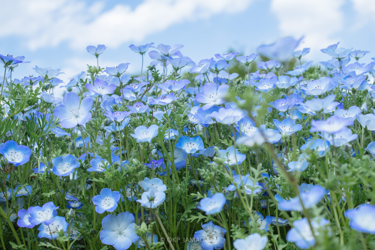
[[[93,197],[95,211],[102,214],[105,211],[113,212],[117,208],[117,202],[120,200],[120,192],[111,191],[109,188],[103,188],[100,194]]]

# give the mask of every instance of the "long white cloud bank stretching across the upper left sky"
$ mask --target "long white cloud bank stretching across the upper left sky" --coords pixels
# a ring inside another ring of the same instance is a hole
[[[77,0],[6,1],[3,9],[17,13],[0,22],[0,37],[20,36],[30,50],[57,47],[67,42],[82,49],[90,44],[118,47],[142,41],[173,24],[236,13],[252,0],[145,0],[131,8],[119,4],[109,10],[103,3]]]

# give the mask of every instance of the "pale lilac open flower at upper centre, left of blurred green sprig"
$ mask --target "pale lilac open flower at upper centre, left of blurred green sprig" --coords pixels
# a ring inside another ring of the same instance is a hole
[[[229,86],[226,84],[206,83],[202,87],[202,93],[197,93],[195,99],[197,102],[205,103],[202,108],[203,110],[207,110],[214,105],[224,103],[223,97],[228,92],[228,88]]]

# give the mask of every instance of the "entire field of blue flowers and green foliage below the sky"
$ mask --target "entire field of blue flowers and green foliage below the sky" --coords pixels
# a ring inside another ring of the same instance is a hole
[[[197,64],[182,45],[130,45],[133,78],[101,68],[98,45],[68,84],[5,74],[1,247],[374,249],[374,62],[335,44],[302,63],[299,43]]]

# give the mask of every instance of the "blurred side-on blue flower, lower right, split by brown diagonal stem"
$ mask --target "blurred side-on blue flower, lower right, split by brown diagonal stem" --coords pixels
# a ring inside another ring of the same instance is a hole
[[[308,209],[315,206],[321,199],[323,199],[326,191],[320,185],[301,184],[299,187],[300,197],[303,206]],[[302,211],[302,204],[298,196],[289,199],[281,200],[279,202],[279,209],[283,211]]]

